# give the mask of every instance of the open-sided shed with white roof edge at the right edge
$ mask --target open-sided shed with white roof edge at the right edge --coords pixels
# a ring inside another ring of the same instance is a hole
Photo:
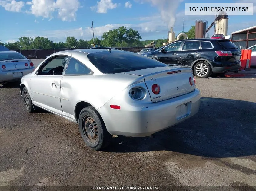
[[[231,33],[231,42],[240,49],[247,49],[256,44],[256,26]]]

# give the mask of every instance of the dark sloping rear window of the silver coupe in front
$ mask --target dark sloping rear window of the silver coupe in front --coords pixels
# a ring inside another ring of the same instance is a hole
[[[167,66],[155,59],[127,51],[102,51],[88,54],[87,57],[104,74]]]

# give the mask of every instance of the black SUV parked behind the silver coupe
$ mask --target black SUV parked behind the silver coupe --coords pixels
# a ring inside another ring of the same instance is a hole
[[[191,67],[198,78],[235,72],[241,66],[241,50],[228,39],[177,40],[144,56],[171,66]]]

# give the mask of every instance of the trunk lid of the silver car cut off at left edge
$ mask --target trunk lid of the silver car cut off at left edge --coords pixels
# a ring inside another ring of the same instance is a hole
[[[26,69],[30,68],[30,62],[28,59],[3,60],[0,61],[0,68],[2,71]],[[28,65],[26,66],[25,64]],[[5,68],[2,67],[3,65]]]

